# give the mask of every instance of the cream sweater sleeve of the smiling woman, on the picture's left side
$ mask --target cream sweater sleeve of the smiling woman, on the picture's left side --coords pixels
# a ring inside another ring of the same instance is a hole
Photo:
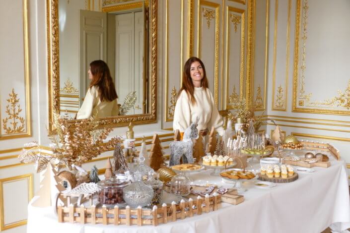
[[[180,132],[185,132],[191,124],[191,108],[190,100],[187,96],[186,91],[182,91],[179,99],[176,101],[173,129],[179,129]]]

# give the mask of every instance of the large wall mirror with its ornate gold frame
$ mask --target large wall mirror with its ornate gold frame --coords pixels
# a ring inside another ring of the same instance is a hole
[[[49,134],[55,133],[54,113],[68,118],[70,127],[79,121],[90,62],[99,59],[124,108],[99,117],[99,126],[156,120],[157,0],[101,0],[96,8],[86,0],[47,0]]]

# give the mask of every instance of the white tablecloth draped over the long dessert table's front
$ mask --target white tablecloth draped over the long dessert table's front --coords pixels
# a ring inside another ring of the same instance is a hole
[[[114,226],[58,223],[52,208],[28,206],[28,233],[321,233],[333,223],[350,228],[350,197],[344,161],[314,168],[291,183],[271,189],[248,187],[239,205],[222,203],[209,214],[153,226]],[[191,174],[195,182],[224,184],[211,171]],[[200,180],[200,181],[198,181]]]

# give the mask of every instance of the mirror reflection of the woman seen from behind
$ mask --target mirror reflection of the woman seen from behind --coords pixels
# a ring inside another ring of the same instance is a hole
[[[106,62],[92,61],[88,74],[91,83],[76,118],[89,118],[95,112],[97,112],[96,117],[117,116],[119,114],[118,96]]]

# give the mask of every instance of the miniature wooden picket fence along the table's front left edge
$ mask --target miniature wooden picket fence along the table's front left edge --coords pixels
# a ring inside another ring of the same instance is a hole
[[[131,209],[127,206],[125,209],[120,209],[118,206],[108,209],[105,205],[96,208],[95,206],[85,208],[83,205],[75,207],[70,204],[68,207],[58,206],[58,221],[60,223],[91,223],[104,225],[153,225],[166,224],[168,222],[175,222],[178,219],[185,219],[186,217],[193,217],[194,215],[201,215],[202,213],[209,213],[219,208],[221,196],[214,193],[211,197],[207,194],[204,198],[197,197],[197,200],[189,198],[188,202],[181,200],[180,204],[175,202],[171,206],[165,203],[160,206],[153,206],[150,209]]]

